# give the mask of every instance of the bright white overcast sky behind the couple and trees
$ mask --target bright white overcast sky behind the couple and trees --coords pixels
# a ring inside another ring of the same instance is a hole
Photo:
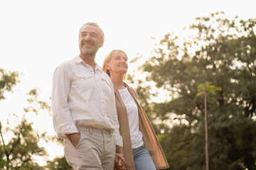
[[[95,58],[101,66],[114,49],[124,50],[129,60],[138,54],[151,57],[156,42],[151,37],[161,40],[196,17],[224,11],[231,19],[256,18],[255,6],[255,0],[0,0],[0,68],[22,73],[14,93],[0,101],[1,123],[6,125],[10,113],[21,118],[31,89],[39,89],[41,100],[48,100],[55,67],[79,54],[78,30],[84,23],[96,22],[105,33]],[[54,135],[48,113],[27,118],[39,132]],[[48,147],[53,148],[62,152],[56,145]]]

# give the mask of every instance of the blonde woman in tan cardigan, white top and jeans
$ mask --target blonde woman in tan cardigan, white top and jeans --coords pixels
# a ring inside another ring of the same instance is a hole
[[[128,64],[122,50],[112,50],[103,63],[103,70],[113,81],[119,132],[123,138],[126,169],[166,169],[166,161],[151,124],[139,105],[137,91],[124,83]],[[115,162],[115,168],[124,169]]]

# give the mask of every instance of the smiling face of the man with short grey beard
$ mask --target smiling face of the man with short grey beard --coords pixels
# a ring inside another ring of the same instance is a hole
[[[103,40],[100,29],[96,26],[84,26],[79,35],[79,48],[82,55],[94,56],[102,47]]]

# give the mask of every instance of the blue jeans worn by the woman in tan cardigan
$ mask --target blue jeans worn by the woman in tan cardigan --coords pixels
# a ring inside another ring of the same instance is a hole
[[[138,147],[136,149],[132,149],[132,152],[136,170],[156,170],[154,162],[152,161],[145,145],[142,145],[142,147]]]

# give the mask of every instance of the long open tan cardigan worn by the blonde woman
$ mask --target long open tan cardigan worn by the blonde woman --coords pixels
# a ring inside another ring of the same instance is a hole
[[[167,169],[169,168],[169,164],[167,163],[166,157],[164,155],[164,151],[161,148],[159,140],[156,137],[156,134],[149,123],[149,119],[146,117],[142,106],[139,105],[137,91],[132,87],[124,84],[129,93],[134,98],[135,103],[137,103],[138,111],[139,111],[139,130],[142,132],[144,145],[148,150],[151,158],[156,166],[156,169]],[[119,132],[122,135],[123,139],[123,147],[124,147],[124,159],[126,160],[126,168],[127,170],[135,169],[134,159],[132,154],[132,142],[129,133],[129,123],[127,110],[124,106],[121,96],[119,95],[119,91],[114,89],[114,96],[117,105],[117,115],[119,120]]]

